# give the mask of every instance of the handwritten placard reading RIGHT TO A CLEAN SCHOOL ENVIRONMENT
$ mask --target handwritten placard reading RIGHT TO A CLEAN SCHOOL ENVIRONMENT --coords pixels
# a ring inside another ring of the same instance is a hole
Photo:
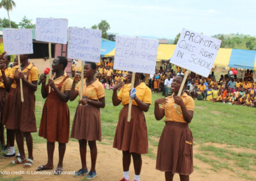
[[[114,69],[155,73],[158,40],[116,36]]]

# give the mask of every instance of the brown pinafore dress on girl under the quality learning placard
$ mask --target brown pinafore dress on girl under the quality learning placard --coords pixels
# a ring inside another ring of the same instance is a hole
[[[66,76],[59,84],[55,84],[59,90],[67,80]],[[49,90],[49,85],[45,89]],[[69,109],[67,103],[61,101],[56,92],[51,89],[44,103],[42,119],[39,128],[39,136],[47,141],[54,143],[68,143],[69,138]]]

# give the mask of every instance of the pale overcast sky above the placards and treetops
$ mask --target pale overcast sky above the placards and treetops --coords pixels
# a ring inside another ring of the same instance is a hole
[[[174,39],[182,28],[212,36],[242,33],[256,36],[255,0],[14,0],[11,20],[24,15],[67,18],[68,26],[92,27],[107,20],[109,33]],[[0,17],[7,12],[0,10]]]

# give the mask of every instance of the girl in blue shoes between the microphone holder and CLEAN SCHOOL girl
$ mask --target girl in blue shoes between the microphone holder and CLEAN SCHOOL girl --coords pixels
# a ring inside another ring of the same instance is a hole
[[[101,141],[101,126],[100,126],[100,108],[105,107],[105,91],[101,82],[95,78],[96,64],[86,62],[84,65],[84,82],[83,82],[83,99],[79,100],[79,105],[76,108],[74,117],[71,138],[79,140],[79,150],[81,156],[82,168],[77,171],[74,177],[79,177],[88,173],[86,166],[86,145],[90,147],[92,167],[87,180],[92,180],[97,176],[95,164],[97,159],[96,140]],[[70,91],[70,101],[76,99],[80,95],[81,81],[79,75],[76,75],[72,89]],[[76,87],[76,89],[75,89]]]

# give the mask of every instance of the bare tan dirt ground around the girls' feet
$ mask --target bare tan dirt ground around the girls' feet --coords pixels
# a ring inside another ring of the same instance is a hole
[[[98,158],[97,158],[97,180],[120,180],[122,178],[122,152],[112,148],[109,145],[109,141],[103,140],[103,144],[98,143]],[[46,143],[35,143],[34,145],[34,157],[35,161],[32,168],[24,169],[22,165],[10,166],[8,163],[12,159],[1,159],[0,170],[1,171],[24,171],[24,175],[2,175],[3,178],[10,177],[22,177],[20,180],[82,180],[84,177],[75,178],[72,172],[77,171],[81,168],[81,161],[79,155],[79,145],[76,141],[70,141],[67,144],[67,150],[63,163],[63,171],[70,171],[69,175],[37,175],[36,168],[47,161]],[[156,149],[154,148],[154,154]],[[198,153],[195,147],[194,154]],[[90,170],[90,150],[87,150],[87,164]],[[58,145],[54,152],[54,166],[58,163]],[[213,181],[213,180],[244,180],[243,178],[237,178],[236,175],[229,170],[221,170],[218,173],[212,170],[209,164],[206,164],[198,159],[194,159],[194,172],[191,174],[190,180],[198,181]],[[148,156],[143,156],[143,166],[141,171],[141,180],[164,180],[164,173],[156,170],[156,159],[151,159]],[[134,178],[133,166],[130,167],[130,180]],[[28,172],[27,172],[28,171]],[[175,175],[173,180],[179,180],[179,175]]]

